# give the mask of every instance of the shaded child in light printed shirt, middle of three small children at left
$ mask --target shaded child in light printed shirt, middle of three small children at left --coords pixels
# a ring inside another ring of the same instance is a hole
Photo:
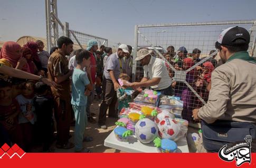
[[[25,151],[30,151],[32,143],[33,125],[36,121],[34,114],[33,98],[34,98],[34,81],[27,81],[23,83],[22,94],[16,97],[20,104],[21,113],[18,116],[18,123],[20,126],[20,147]]]

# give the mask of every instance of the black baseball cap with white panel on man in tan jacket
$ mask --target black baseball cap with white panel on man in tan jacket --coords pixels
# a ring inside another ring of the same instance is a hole
[[[236,41],[237,39],[242,40],[239,40],[238,42]],[[243,27],[229,27],[222,31],[217,42],[227,46],[243,46],[250,43],[250,34]]]

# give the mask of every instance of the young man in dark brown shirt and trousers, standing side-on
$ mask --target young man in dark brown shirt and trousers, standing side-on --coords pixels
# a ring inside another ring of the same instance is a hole
[[[54,113],[57,123],[56,147],[61,149],[73,148],[69,142],[71,115],[70,76],[72,71],[68,69],[68,60],[65,57],[73,51],[73,41],[68,37],[60,37],[57,40],[56,50],[48,61],[48,78],[59,84],[51,87],[54,98]]]

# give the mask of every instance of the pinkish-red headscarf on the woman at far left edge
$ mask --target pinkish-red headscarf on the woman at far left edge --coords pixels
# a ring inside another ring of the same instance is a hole
[[[18,52],[17,52],[18,51]],[[0,52],[0,59],[8,60],[15,68],[21,58],[21,46],[14,41],[6,41]]]

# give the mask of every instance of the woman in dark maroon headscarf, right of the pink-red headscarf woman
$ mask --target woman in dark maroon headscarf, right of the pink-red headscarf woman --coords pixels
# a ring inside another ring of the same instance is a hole
[[[27,47],[22,47],[21,50],[22,50],[22,57],[24,57],[27,61],[27,65],[24,66],[24,68],[22,70],[29,72],[31,74],[36,74],[37,68],[32,60],[31,49],[29,49]]]

